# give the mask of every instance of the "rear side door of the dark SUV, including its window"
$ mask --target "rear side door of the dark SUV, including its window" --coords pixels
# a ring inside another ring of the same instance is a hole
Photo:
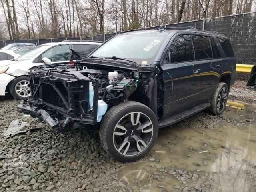
[[[214,38],[203,35],[192,35],[195,57],[201,64],[200,92],[198,102],[209,102],[215,92],[222,74],[222,59]]]

